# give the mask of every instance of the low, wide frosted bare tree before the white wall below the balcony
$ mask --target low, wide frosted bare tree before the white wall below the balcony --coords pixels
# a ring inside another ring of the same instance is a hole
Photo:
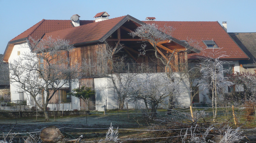
[[[167,107],[167,98],[173,91],[169,87],[175,87],[177,92],[179,87],[175,82],[170,82],[166,74],[144,73],[134,78],[130,94],[130,101],[142,100],[145,104],[146,112],[151,117],[156,117],[156,111],[161,105]],[[176,93],[177,95],[178,93]],[[151,111],[150,111],[151,109]]]

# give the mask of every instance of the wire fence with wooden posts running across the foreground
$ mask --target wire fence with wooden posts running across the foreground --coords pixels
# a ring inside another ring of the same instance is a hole
[[[202,115],[203,112],[203,118],[205,120],[211,121],[213,119],[213,111],[212,111],[212,107],[191,107],[193,113],[194,113],[194,119],[197,120],[197,116]],[[218,117],[218,122],[220,123],[225,123],[225,124],[229,124],[229,125],[233,125],[234,124],[234,120],[233,118],[235,117],[238,121],[238,123],[240,125],[243,124],[247,124],[250,123],[249,121],[246,120],[246,116],[248,116],[248,114],[246,113],[246,109],[253,109],[255,110],[254,107],[233,107],[234,110],[232,110],[232,106],[226,106],[226,107],[218,107],[217,108],[217,117]],[[183,114],[187,114],[188,116],[190,115],[190,109],[189,108],[182,108],[182,109],[175,109],[172,112],[180,112]],[[33,111],[28,111],[28,112],[33,112]],[[42,111],[38,111],[43,113]],[[158,112],[150,112],[150,113],[157,113],[158,117],[159,116],[168,116],[167,114],[170,111],[158,111]],[[201,112],[201,113],[200,113]],[[146,114],[150,114],[150,113],[145,113],[142,112],[142,110],[129,110],[129,112],[127,113],[126,111],[123,112],[114,112],[113,111],[108,111],[107,113],[105,113],[105,115],[103,115],[103,112],[98,112],[98,111],[94,111],[94,112],[90,112],[90,115],[101,115],[101,116],[123,116],[123,117],[127,117],[127,115],[130,115],[130,117],[133,116],[147,116]],[[83,111],[79,111],[79,112],[74,112],[74,115],[79,114],[79,115],[88,115],[88,113],[83,112]],[[253,122],[255,122],[256,119],[256,110],[255,110],[255,115],[249,115],[253,117]],[[127,117],[128,118],[128,117]],[[181,130],[187,130],[187,129],[194,129],[195,127],[191,127],[191,128],[179,128],[179,129],[129,129],[129,128],[118,128],[118,130],[131,130],[131,131],[153,131],[153,132],[157,132],[157,131],[181,131]],[[69,130],[69,129],[75,129],[75,130],[108,130],[109,128],[80,128],[80,127],[60,127],[59,129],[65,129],[65,130]],[[117,129],[117,128],[113,128],[113,129]],[[207,129],[207,128],[199,128],[198,129]],[[215,128],[216,130],[227,130],[227,129],[223,129],[223,128]],[[234,129],[231,129],[234,130]],[[256,128],[250,128],[250,129],[240,129],[241,131],[245,131],[245,130],[252,130],[252,131],[256,131]],[[23,132],[23,133],[16,133],[16,134],[31,134],[31,133],[38,133],[40,131],[35,131],[35,132]],[[8,135],[8,133],[1,133],[0,136],[2,135]],[[209,134],[209,136],[214,136],[216,134]],[[180,135],[180,136],[172,136],[172,137],[161,137],[161,138],[174,138],[174,137],[183,137],[184,135]],[[187,136],[189,136],[189,134],[187,134]],[[254,136],[246,136],[247,138],[256,138]],[[150,140],[150,139],[161,139],[161,138],[136,138],[136,139],[120,139],[120,140]],[[93,141],[88,141],[88,142],[93,142]]]

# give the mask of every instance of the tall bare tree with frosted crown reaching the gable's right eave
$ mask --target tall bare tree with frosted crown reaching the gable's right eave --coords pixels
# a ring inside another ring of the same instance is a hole
[[[161,64],[165,68],[165,73],[167,75],[167,78],[171,83],[174,83],[175,77],[176,77],[176,84],[179,84],[183,77],[186,76],[186,73],[184,71],[179,70],[181,67],[185,67],[186,63],[183,63],[183,65],[179,65],[176,63],[174,64],[173,61],[175,60],[175,56],[177,57],[179,53],[182,53],[184,51],[180,51],[177,49],[163,49],[159,48],[162,47],[159,43],[163,41],[168,41],[171,40],[171,33],[174,29],[172,27],[164,27],[164,28],[159,28],[155,24],[146,24],[141,27],[138,27],[134,32],[131,32],[130,35],[133,37],[138,36],[141,38],[144,42],[149,42],[152,46],[153,49],[147,49],[146,44],[142,45],[141,48],[141,54],[145,54],[147,51],[153,51],[154,56],[160,60]],[[191,46],[187,45],[189,48]],[[188,47],[185,47],[187,50],[189,49]],[[185,51],[186,52],[186,51]],[[175,69],[175,71],[173,71]],[[185,69],[185,68],[184,68]],[[179,78],[173,73],[173,72],[180,72],[179,73]],[[171,86],[170,91],[172,91],[169,94],[169,102],[168,102],[168,109],[171,110],[174,106],[174,96],[175,96],[175,87],[176,86]]]

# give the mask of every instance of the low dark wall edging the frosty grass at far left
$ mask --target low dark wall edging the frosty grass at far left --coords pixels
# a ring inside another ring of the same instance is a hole
[[[64,111],[63,116],[79,116],[79,115],[90,115],[90,111]],[[60,117],[62,116],[62,111],[48,111],[49,116],[53,117]],[[37,112],[36,111],[20,111],[20,112],[6,112],[2,111],[0,112],[0,118],[5,117],[5,118],[13,118],[13,117],[44,117],[44,112]]]

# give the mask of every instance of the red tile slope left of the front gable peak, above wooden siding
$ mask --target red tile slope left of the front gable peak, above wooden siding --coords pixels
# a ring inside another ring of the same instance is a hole
[[[47,33],[43,38],[52,36],[52,38],[66,39],[69,40],[71,44],[98,41],[124,17],[125,16],[112,18],[104,21],[89,23],[83,26]]]

